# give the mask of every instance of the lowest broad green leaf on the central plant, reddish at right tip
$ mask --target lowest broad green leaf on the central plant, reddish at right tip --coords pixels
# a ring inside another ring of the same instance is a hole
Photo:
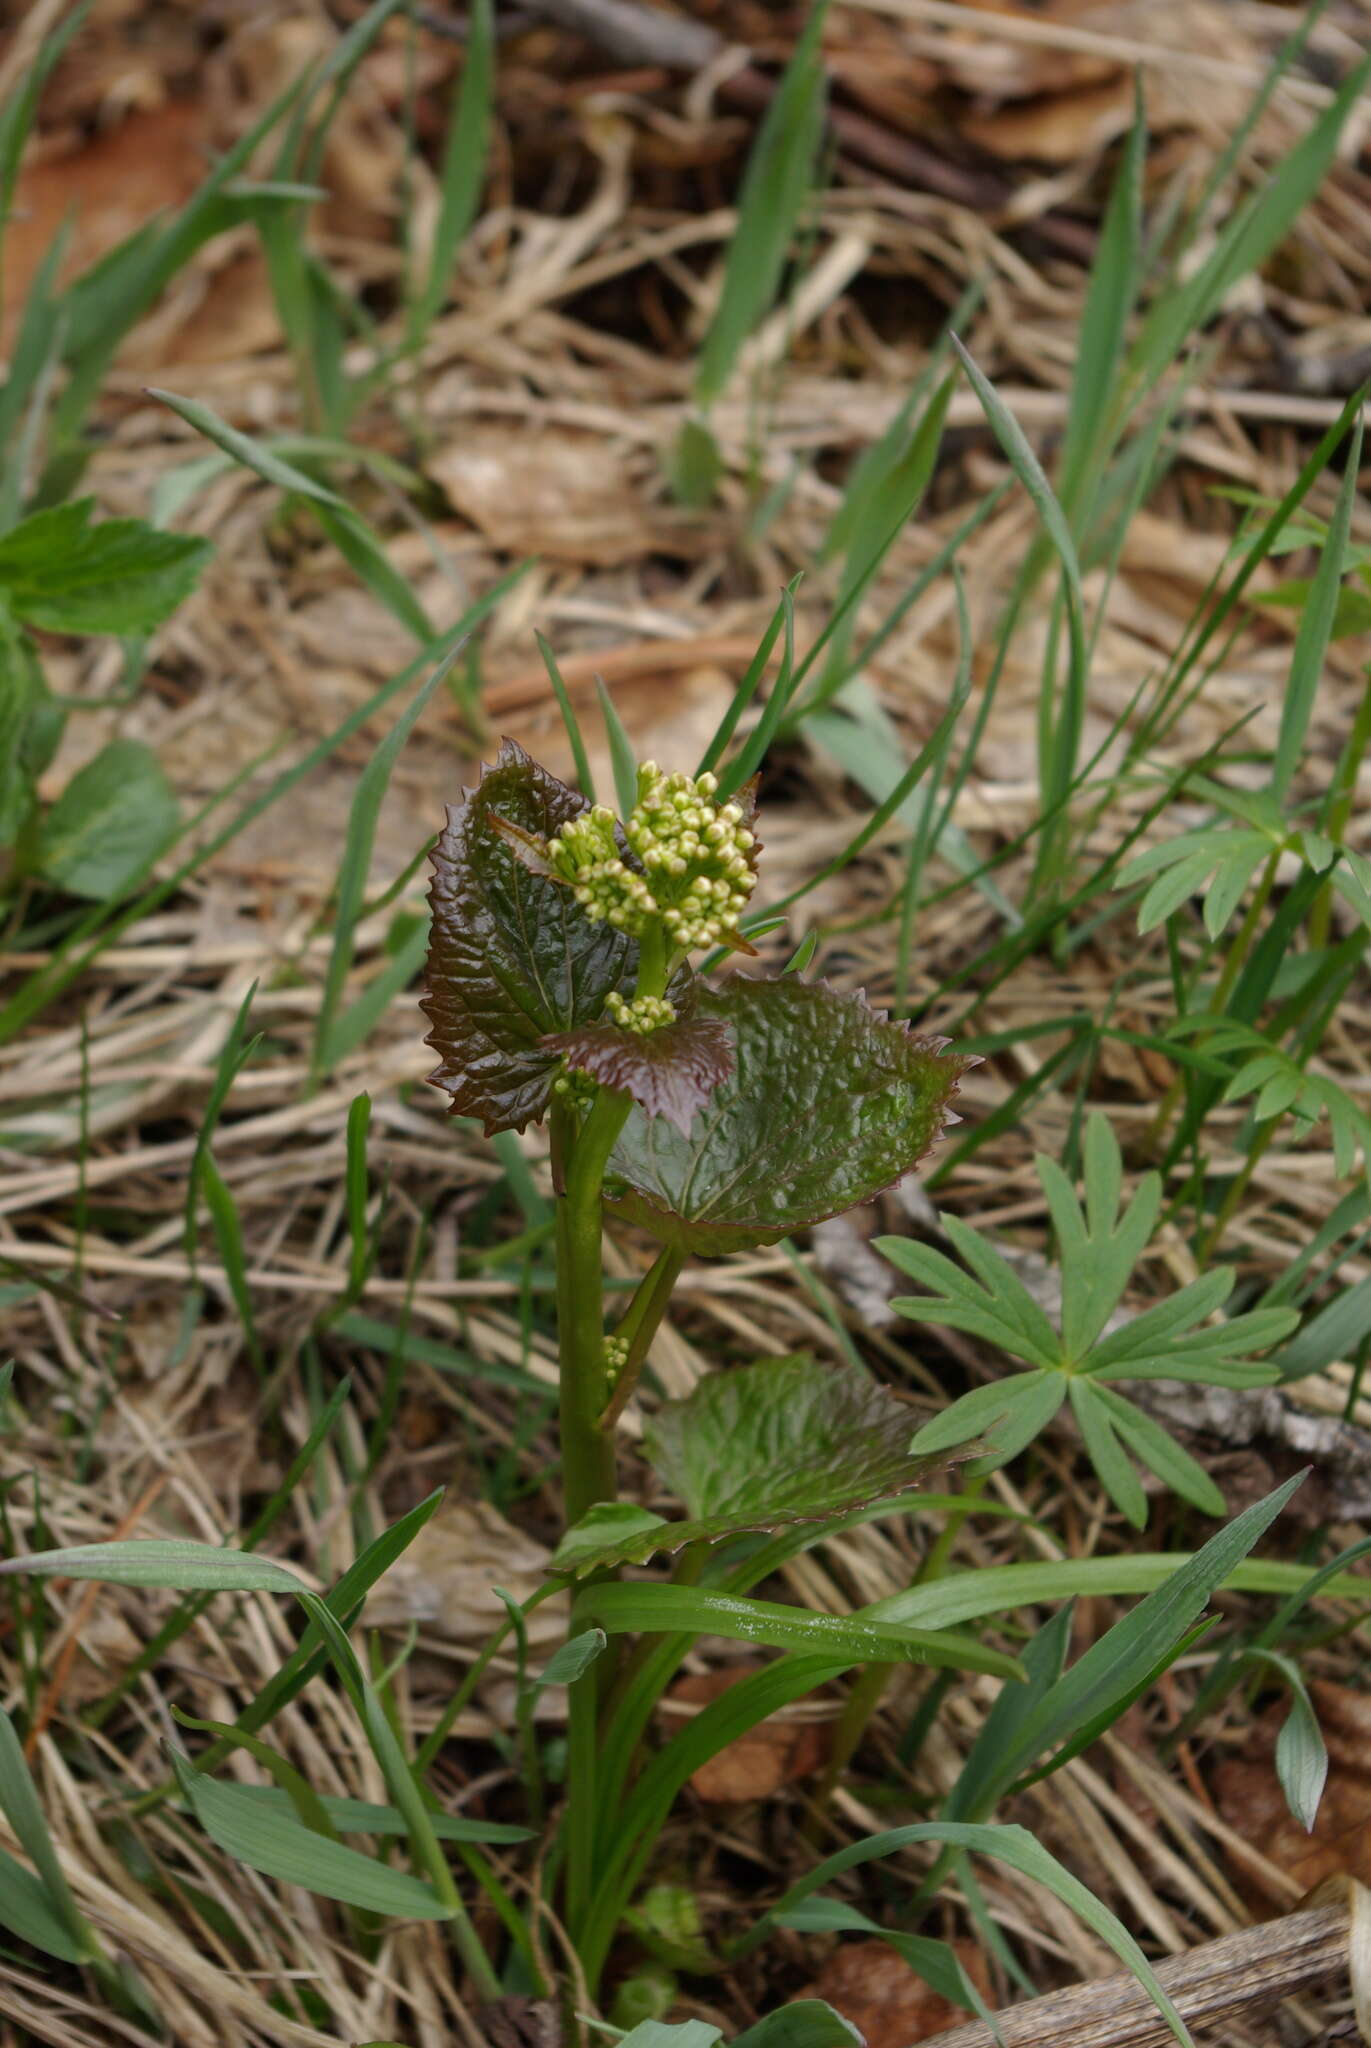
[[[559,1544],[557,1569],[643,1565],[744,1530],[828,1522],[908,1493],[945,1462],[910,1454],[910,1411],[896,1395],[807,1354],[711,1372],[684,1401],[662,1405],[643,1450],[689,1520],[664,1522],[627,1501],[592,1509]]]

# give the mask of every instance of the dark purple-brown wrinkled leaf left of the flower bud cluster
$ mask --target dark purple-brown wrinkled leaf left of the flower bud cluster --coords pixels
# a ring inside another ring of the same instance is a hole
[[[594,1022],[611,989],[633,991],[637,942],[586,918],[570,889],[531,872],[492,825],[498,815],[549,840],[584,809],[584,797],[506,739],[494,768],[449,807],[434,848],[424,1010],[441,1065],[428,1079],[488,1135],[523,1130],[547,1110],[562,1067],[543,1044],[549,1032]]]

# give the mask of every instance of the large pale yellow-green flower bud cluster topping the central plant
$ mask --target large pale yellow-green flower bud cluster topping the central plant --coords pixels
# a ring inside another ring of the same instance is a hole
[[[682,952],[711,946],[738,924],[756,881],[742,805],[715,803],[717,786],[711,774],[643,762],[623,827],[643,872],[621,858],[613,811],[598,803],[562,827],[549,860],[590,918],[635,934],[658,918]]]

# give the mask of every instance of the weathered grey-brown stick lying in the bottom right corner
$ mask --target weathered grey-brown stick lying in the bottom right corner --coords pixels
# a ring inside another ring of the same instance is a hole
[[[1205,1942],[1160,1962],[1156,1974],[1187,2025],[1209,2030],[1346,1968],[1346,1905],[1332,1905]],[[1049,1991],[1043,1999],[996,2013],[996,2021],[1004,2048],[1166,2048],[1174,2042],[1160,2011],[1129,1974]],[[980,2021],[951,2028],[939,2034],[939,2048],[994,2048],[994,2034]]]

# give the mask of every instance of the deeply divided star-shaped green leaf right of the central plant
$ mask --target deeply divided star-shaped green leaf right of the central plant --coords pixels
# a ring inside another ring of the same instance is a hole
[[[1084,1206],[1053,1159],[1039,1155],[1037,1171],[1057,1239],[1060,1325],[1014,1268],[957,1217],[947,1217],[945,1229],[961,1266],[930,1245],[879,1239],[885,1257],[926,1288],[896,1298],[902,1315],[965,1329],[1029,1368],[953,1401],[910,1448],[947,1452],[980,1440],[988,1452],[978,1468],[990,1470],[1031,1444],[1070,1397],[1100,1485],[1135,1528],[1146,1522],[1146,1499],[1129,1452],[1195,1507],[1223,1513],[1223,1495],[1195,1458],[1109,1382],[1269,1386],[1279,1372],[1254,1354],[1289,1335],[1299,1317],[1289,1309],[1252,1309],[1213,1323],[1234,1286],[1232,1268],[1219,1266],[1111,1329],[1158,1223],[1160,1174],[1146,1174],[1123,1204],[1119,1143],[1098,1114],[1086,1124]]]

